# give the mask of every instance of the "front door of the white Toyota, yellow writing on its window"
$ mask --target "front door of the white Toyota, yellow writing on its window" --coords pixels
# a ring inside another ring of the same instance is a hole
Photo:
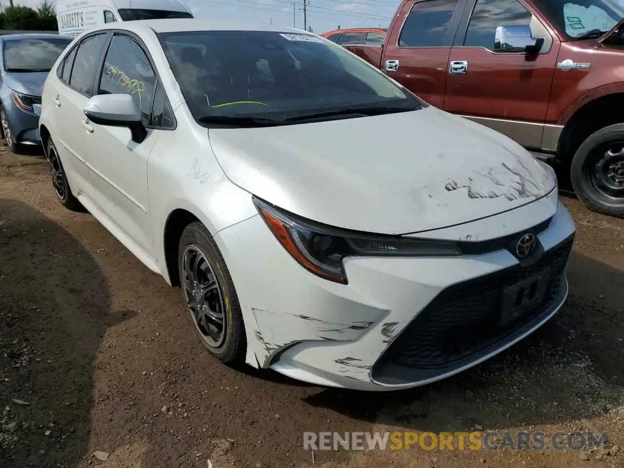
[[[115,34],[98,77],[96,94],[130,94],[149,125],[156,75],[142,47],[128,36]],[[85,138],[92,168],[94,201],[102,214],[148,258],[155,260],[147,194],[147,158],[158,137],[134,142],[130,130],[91,123]]]

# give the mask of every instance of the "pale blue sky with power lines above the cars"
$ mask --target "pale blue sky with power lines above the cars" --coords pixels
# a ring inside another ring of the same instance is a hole
[[[183,0],[195,17],[243,21],[303,29],[303,2],[307,26],[323,33],[344,27],[388,27],[401,0]],[[9,0],[0,0],[8,5]],[[14,0],[14,4],[36,7],[41,0]],[[55,2],[56,3],[56,2]],[[293,7],[294,4],[294,7]]]

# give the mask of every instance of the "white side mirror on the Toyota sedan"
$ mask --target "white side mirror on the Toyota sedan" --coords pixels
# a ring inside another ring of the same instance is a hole
[[[93,96],[84,106],[84,115],[97,125],[127,127],[132,141],[141,143],[147,137],[139,106],[129,94],[100,94]]]

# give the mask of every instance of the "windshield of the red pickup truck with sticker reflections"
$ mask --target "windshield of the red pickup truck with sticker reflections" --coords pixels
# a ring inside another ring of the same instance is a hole
[[[607,32],[624,17],[624,0],[535,0],[535,3],[568,39],[590,31]]]

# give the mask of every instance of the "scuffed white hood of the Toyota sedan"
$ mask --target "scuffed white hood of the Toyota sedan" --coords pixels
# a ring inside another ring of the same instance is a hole
[[[255,129],[210,129],[233,183],[301,217],[404,234],[470,222],[544,197],[547,166],[502,134],[433,106]]]

